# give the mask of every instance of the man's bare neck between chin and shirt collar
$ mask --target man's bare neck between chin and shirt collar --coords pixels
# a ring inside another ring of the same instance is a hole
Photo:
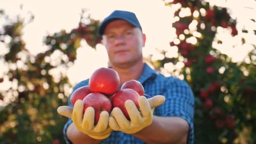
[[[142,74],[144,63],[143,61],[133,64],[132,66],[127,67],[118,67],[118,66],[111,66],[115,71],[117,71],[120,77],[120,83],[129,81],[129,80],[138,80]]]

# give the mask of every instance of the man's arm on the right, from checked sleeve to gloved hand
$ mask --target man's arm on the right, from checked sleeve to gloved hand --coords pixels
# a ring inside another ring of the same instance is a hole
[[[127,100],[125,107],[131,120],[127,120],[116,107],[110,114],[109,126],[115,131],[130,133],[148,144],[192,144],[194,96],[191,89],[186,83],[175,81],[163,94],[166,100],[156,106],[155,115],[152,115],[154,109],[150,109],[144,96],[141,96],[140,112],[132,101]]]

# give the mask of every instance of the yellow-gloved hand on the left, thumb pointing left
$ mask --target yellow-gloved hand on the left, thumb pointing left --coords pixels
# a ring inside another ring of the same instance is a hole
[[[75,102],[74,109],[68,106],[60,106],[57,112],[60,115],[71,118],[78,131],[87,134],[93,139],[106,139],[112,132],[112,129],[108,126],[109,113],[107,111],[101,112],[99,122],[94,125],[94,109],[93,107],[88,107],[83,115],[82,100]]]

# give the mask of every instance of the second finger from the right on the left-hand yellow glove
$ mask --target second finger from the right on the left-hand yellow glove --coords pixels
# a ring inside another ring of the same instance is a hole
[[[87,107],[83,116],[83,129],[86,131],[92,131],[94,128],[94,109],[93,107]]]

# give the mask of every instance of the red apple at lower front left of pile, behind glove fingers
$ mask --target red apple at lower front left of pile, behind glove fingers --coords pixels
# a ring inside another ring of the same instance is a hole
[[[102,93],[90,93],[83,99],[83,113],[88,107],[93,107],[94,123],[98,123],[99,115],[102,111],[107,111],[108,113],[112,110],[112,104],[110,99]]]

